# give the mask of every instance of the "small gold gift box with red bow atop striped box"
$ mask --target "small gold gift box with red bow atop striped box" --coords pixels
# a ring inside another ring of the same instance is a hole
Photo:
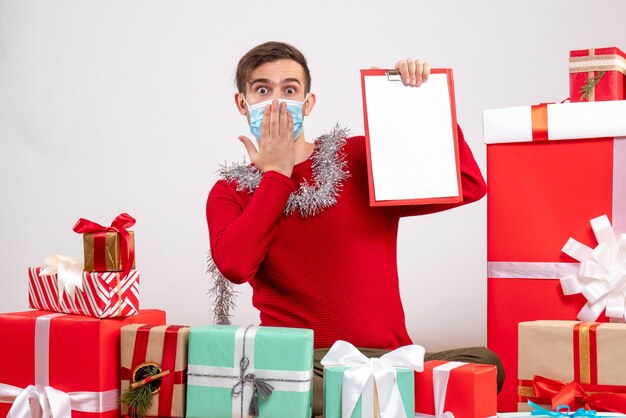
[[[85,271],[124,271],[135,268],[135,237],[128,231],[135,219],[126,213],[105,227],[80,218],[73,230],[83,234]]]

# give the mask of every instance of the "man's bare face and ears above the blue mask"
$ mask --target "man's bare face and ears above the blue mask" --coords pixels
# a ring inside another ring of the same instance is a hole
[[[242,115],[247,115],[246,101],[249,105],[273,99],[303,101],[305,83],[304,69],[297,62],[290,59],[266,62],[250,74],[245,101],[241,93],[235,95],[235,101]],[[302,111],[305,116],[311,112],[314,100],[314,96],[309,95],[307,102],[312,103],[304,104]]]

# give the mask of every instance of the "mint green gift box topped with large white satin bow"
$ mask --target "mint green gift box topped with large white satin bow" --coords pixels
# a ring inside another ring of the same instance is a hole
[[[408,345],[367,358],[340,340],[321,363],[326,418],[413,417],[413,374],[423,370],[423,347]]]

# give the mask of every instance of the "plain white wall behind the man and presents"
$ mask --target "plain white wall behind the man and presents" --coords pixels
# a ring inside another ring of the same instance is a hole
[[[79,217],[137,218],[143,307],[209,323],[205,201],[241,161],[233,101],[248,49],[309,60],[308,137],[363,132],[359,69],[407,56],[454,69],[458,120],[483,170],[481,111],[568,97],[569,50],[626,49],[623,0],[0,0],[0,311],[27,308],[28,266],[81,255]],[[427,350],[486,342],[486,200],[405,219],[407,325]],[[320,260],[323,262],[323,260]],[[256,322],[242,287],[236,323]]]

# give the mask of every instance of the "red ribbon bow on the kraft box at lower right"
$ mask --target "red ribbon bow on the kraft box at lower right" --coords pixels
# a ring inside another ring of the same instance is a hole
[[[585,385],[587,390],[626,390],[625,387],[608,385]],[[595,386],[595,387],[594,387]],[[552,401],[552,409],[559,405],[568,405],[572,409],[585,408],[595,409],[602,412],[626,413],[626,393],[616,392],[586,392],[583,385],[576,381],[564,383],[559,380],[549,379],[543,376],[533,378],[535,396],[549,398]]]

